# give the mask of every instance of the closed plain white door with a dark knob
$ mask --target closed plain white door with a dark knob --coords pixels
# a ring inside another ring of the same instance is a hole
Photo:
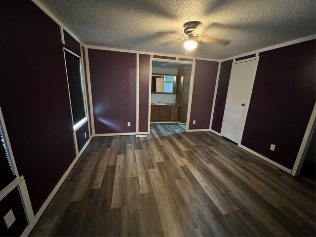
[[[240,143],[259,56],[234,62],[228,86],[221,134]]]

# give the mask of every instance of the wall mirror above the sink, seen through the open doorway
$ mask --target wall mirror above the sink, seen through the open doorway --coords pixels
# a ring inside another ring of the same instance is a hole
[[[152,74],[152,93],[175,94],[176,81],[176,75]]]

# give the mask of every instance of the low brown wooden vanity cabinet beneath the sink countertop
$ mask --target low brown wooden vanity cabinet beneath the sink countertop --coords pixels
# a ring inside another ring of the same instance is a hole
[[[179,107],[151,107],[150,120],[152,122],[157,121],[178,121],[179,119]]]

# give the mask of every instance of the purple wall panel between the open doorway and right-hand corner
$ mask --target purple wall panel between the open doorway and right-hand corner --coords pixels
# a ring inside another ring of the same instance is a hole
[[[189,129],[209,128],[217,70],[218,62],[196,60]]]

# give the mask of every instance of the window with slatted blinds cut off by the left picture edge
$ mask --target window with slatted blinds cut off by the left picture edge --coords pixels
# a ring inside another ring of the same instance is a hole
[[[10,184],[15,177],[0,126],[0,191]]]

